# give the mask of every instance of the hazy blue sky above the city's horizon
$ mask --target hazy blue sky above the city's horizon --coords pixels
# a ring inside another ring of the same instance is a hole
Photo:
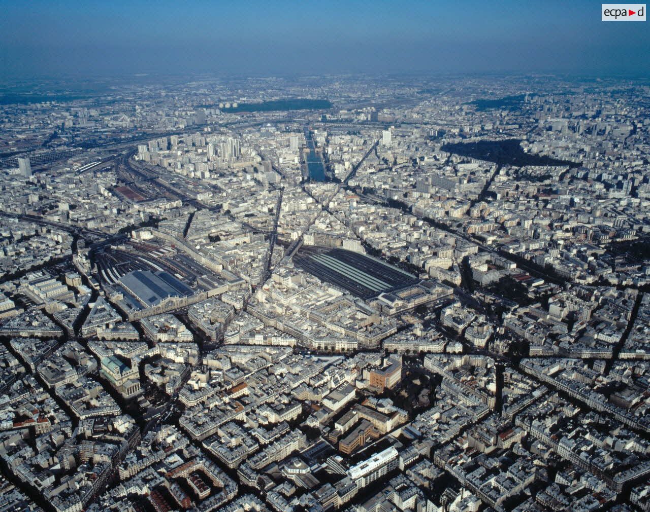
[[[593,1],[0,0],[3,75],[650,75],[649,22]]]

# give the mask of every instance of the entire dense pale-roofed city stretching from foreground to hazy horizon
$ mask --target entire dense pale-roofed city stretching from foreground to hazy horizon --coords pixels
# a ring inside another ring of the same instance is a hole
[[[650,509],[643,79],[0,104],[0,511]]]

